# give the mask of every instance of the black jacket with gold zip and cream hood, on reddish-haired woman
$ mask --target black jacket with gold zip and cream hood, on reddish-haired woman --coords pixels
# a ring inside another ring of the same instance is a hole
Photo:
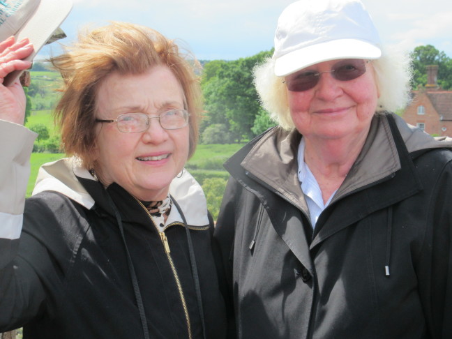
[[[144,206],[115,183],[105,191],[70,159],[43,168],[40,193],[25,204],[20,240],[9,248],[1,242],[0,331],[24,326],[24,338],[36,339],[144,338],[127,248],[150,338],[203,338],[188,238],[176,207],[163,237]],[[223,338],[224,301],[204,194],[188,173],[174,179],[170,193],[190,229],[205,338]],[[119,211],[126,246],[107,195]]]

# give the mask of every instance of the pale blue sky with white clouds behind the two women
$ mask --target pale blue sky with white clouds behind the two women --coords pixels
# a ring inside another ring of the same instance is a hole
[[[239,59],[273,46],[281,11],[293,0],[73,0],[61,25],[69,43],[86,24],[144,24],[183,40],[197,59]],[[451,0],[362,0],[383,43],[405,50],[433,45],[452,58]],[[59,48],[52,44],[52,54]],[[49,53],[48,47],[41,54]]]

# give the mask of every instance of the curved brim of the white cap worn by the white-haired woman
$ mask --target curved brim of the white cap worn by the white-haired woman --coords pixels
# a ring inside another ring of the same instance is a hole
[[[300,48],[278,57],[275,75],[285,77],[303,68],[337,59],[378,59],[382,50],[362,40],[340,39]]]

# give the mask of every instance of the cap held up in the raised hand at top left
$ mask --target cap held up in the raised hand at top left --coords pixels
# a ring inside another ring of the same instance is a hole
[[[52,40],[72,6],[72,0],[0,0],[0,41],[10,36],[15,36],[16,41],[29,38],[34,51],[26,60],[31,61]],[[10,73],[3,84],[13,83],[21,73]]]

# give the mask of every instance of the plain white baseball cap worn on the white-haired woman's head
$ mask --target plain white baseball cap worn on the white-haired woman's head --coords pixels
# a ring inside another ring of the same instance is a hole
[[[278,19],[275,75],[284,77],[315,63],[378,59],[379,35],[359,0],[299,0]]]

